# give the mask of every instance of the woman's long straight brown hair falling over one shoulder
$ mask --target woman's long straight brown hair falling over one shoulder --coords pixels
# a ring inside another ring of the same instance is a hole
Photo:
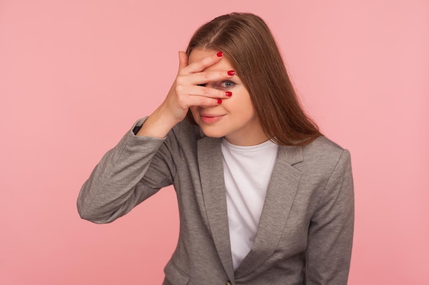
[[[276,144],[302,146],[321,136],[299,104],[267,24],[254,14],[219,16],[194,33],[193,49],[222,51],[250,94],[262,129]],[[188,119],[195,123],[190,113]]]

